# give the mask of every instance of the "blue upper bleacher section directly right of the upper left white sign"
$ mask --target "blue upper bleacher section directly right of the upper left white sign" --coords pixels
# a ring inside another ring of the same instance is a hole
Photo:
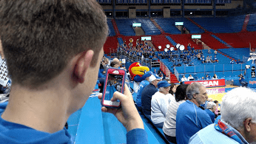
[[[157,27],[150,21],[149,18],[136,19],[136,22],[141,23],[141,28],[144,30],[145,35],[160,35],[161,32]]]

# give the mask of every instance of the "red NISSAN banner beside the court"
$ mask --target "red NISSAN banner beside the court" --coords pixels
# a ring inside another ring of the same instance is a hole
[[[198,81],[185,81],[185,84],[190,83],[202,83],[203,86],[206,87],[218,87],[218,86],[226,86],[225,79],[218,79],[218,80],[198,80]]]

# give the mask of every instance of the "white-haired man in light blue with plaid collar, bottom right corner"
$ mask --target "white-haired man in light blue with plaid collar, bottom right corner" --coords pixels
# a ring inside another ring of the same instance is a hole
[[[256,141],[256,93],[252,89],[235,88],[224,95],[221,120],[198,131],[190,144],[253,143]]]

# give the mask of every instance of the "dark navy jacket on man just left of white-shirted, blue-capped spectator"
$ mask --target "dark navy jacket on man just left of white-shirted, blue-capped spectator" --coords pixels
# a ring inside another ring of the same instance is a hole
[[[158,92],[158,89],[152,83],[149,83],[141,92],[141,108],[146,115],[151,115],[151,98],[155,92]]]

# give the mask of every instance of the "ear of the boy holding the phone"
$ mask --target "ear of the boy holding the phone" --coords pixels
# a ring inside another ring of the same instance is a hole
[[[81,52],[78,55],[78,59],[75,62],[73,75],[75,76],[75,78],[77,78],[79,83],[84,83],[84,77],[87,69],[90,67],[93,55],[94,52],[92,50],[88,50],[87,52]]]

